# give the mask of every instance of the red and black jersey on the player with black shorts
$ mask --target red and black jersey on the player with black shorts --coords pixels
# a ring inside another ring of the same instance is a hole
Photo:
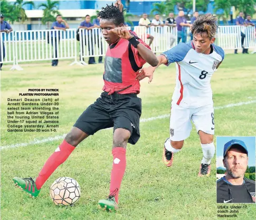
[[[150,47],[130,32],[137,40],[150,49]],[[105,72],[103,74],[103,91],[112,94],[136,93],[139,94],[140,84],[136,79],[139,69],[146,63],[137,48],[127,39],[120,38],[118,42],[109,45],[105,57]]]

